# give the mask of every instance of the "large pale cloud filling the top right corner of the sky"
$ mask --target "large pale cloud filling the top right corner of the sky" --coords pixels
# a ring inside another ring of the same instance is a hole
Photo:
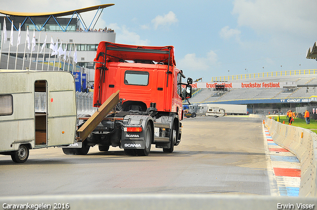
[[[233,14],[239,26],[257,33],[291,33],[316,35],[316,0],[235,0]]]

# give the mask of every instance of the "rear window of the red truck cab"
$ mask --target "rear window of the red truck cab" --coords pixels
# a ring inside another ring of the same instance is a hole
[[[149,72],[126,71],[124,75],[124,84],[148,85]]]

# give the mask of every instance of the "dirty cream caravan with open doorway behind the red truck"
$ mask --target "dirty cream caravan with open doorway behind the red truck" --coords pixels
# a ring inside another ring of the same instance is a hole
[[[0,70],[0,154],[24,163],[29,149],[74,143],[74,77],[61,71]]]

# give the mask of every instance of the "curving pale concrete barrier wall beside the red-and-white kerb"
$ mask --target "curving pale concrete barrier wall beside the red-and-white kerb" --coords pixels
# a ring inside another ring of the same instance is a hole
[[[299,196],[317,197],[317,134],[268,118],[264,123],[274,142],[294,153],[301,162]]]

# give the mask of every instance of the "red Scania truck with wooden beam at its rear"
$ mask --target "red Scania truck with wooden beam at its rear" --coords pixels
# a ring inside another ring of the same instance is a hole
[[[100,42],[94,59],[92,116],[78,116],[76,142],[65,154],[123,148],[127,155],[147,156],[151,145],[173,152],[181,140],[182,100],[191,97],[192,79],[176,68],[173,46],[136,46]]]

